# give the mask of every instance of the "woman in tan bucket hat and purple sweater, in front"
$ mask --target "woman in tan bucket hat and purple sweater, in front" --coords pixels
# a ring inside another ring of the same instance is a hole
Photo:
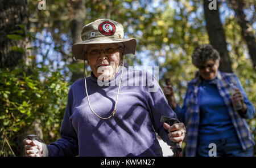
[[[106,24],[112,31],[104,30]],[[176,114],[154,76],[143,78],[141,71],[135,75],[123,66],[124,55],[135,54],[136,48],[134,38],[123,36],[122,25],[110,19],[82,28],[84,41],[73,45],[72,52],[88,62],[92,73],[69,90],[61,138],[51,144],[24,139],[28,156],[162,156],[155,132],[169,145],[182,142],[183,123],[160,122],[162,115]],[[150,82],[134,85],[131,78]],[[157,89],[150,92],[152,87]]]

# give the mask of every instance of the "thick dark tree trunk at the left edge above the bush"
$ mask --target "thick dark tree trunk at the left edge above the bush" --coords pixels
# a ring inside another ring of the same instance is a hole
[[[14,68],[20,61],[28,64],[26,47],[28,38],[28,2],[27,0],[13,0],[0,2],[0,68]],[[18,26],[19,25],[19,26]],[[17,32],[18,31],[18,32]],[[20,40],[14,40],[7,35],[19,35]],[[15,47],[24,51],[17,51]]]

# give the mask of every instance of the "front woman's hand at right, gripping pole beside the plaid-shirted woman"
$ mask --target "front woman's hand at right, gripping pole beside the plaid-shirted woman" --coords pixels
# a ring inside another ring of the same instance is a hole
[[[179,143],[180,147],[182,145],[182,141],[185,138],[186,128],[183,123],[175,123],[170,126],[167,123],[163,124],[163,127],[168,130],[168,137],[174,143]]]

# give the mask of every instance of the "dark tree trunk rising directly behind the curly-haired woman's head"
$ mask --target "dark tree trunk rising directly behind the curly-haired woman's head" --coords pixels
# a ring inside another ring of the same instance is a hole
[[[226,48],[226,37],[220,21],[220,12],[218,11],[218,2],[216,9],[210,10],[209,3],[213,1],[204,0],[204,16],[207,24],[207,32],[210,44],[220,53],[220,67],[222,72],[232,72],[228,49]]]

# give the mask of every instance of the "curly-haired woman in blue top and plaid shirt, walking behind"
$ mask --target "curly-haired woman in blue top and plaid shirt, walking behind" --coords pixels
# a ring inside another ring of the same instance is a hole
[[[182,109],[176,104],[173,89],[164,88],[188,132],[186,156],[253,156],[254,139],[246,119],[253,118],[255,109],[240,80],[235,74],[218,71],[220,55],[211,45],[197,47],[192,63],[199,71],[188,83]],[[234,108],[239,103],[240,109]],[[217,150],[210,150],[215,147]]]

